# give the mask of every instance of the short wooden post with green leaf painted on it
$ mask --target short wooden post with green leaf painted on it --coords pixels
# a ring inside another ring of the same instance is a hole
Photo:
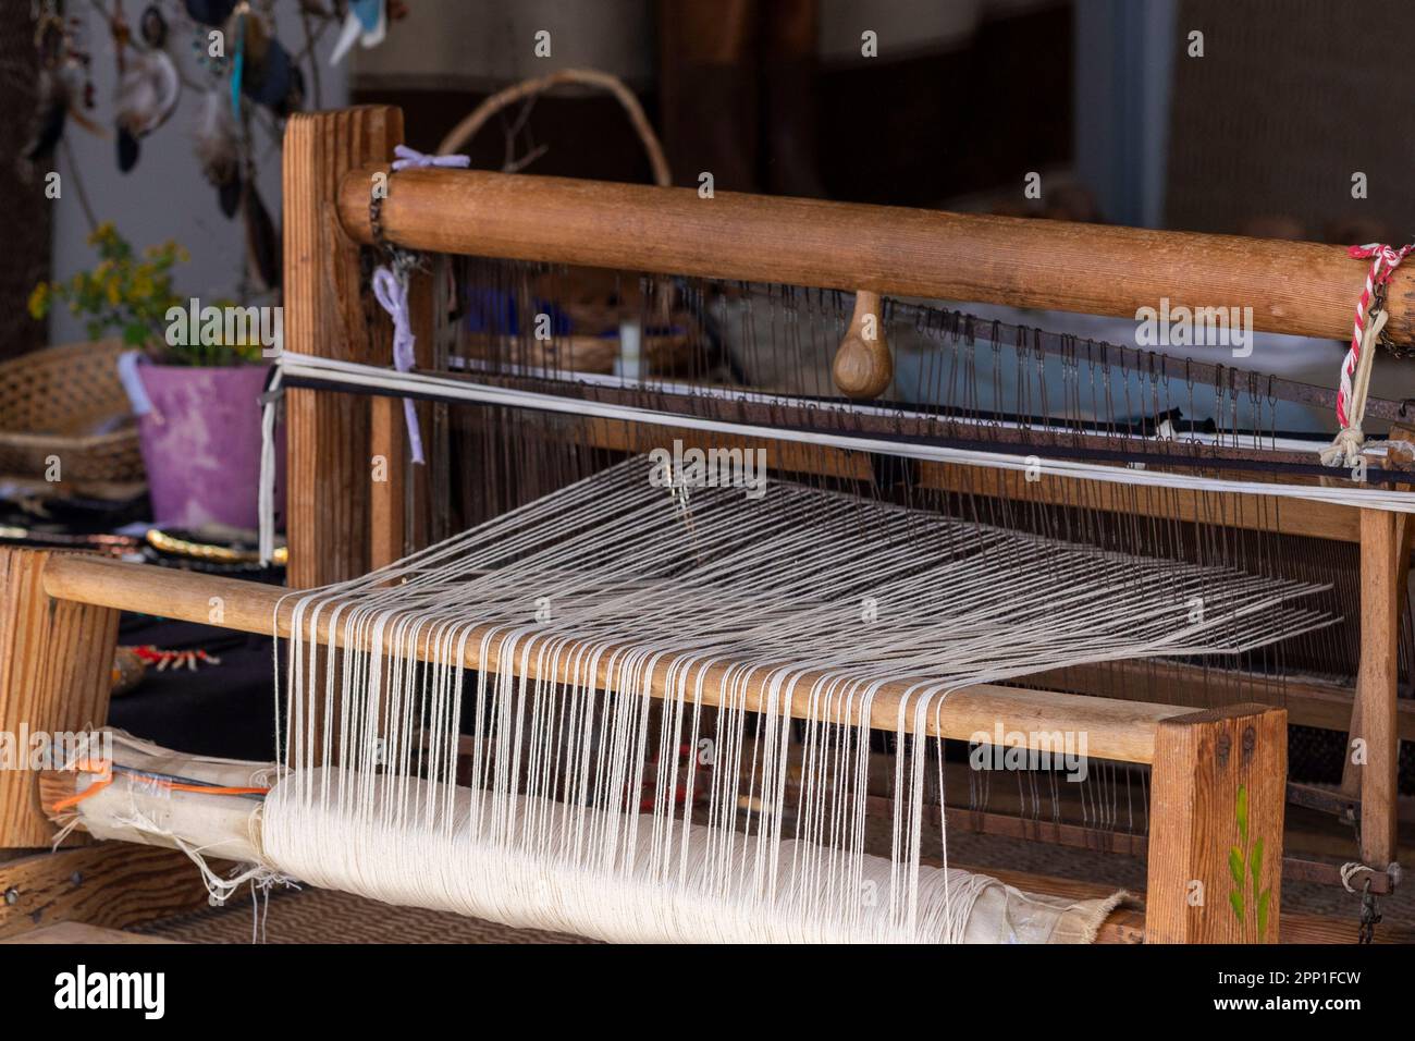
[[[1275,943],[1288,714],[1235,705],[1155,735],[1146,943]]]

